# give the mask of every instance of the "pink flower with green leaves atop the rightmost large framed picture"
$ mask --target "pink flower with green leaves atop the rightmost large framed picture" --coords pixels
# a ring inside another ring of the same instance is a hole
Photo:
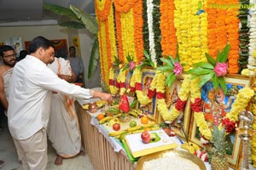
[[[224,76],[228,71],[228,54],[230,51],[230,44],[227,44],[224,50],[218,52],[217,59],[213,59],[210,54],[206,53],[207,62],[200,62],[195,64],[195,68],[187,71],[188,74],[192,74],[192,77],[201,77],[200,88],[209,80],[212,79],[213,87],[215,89],[220,85],[223,88],[224,93],[227,93],[227,87],[225,85]]]

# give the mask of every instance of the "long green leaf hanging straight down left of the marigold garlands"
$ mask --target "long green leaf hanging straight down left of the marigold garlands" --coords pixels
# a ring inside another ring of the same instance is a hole
[[[96,69],[96,66],[98,65],[100,54],[99,54],[99,43],[98,40],[95,39],[95,42],[93,43],[91,52],[90,52],[90,61],[89,61],[89,67],[88,67],[88,78],[90,78],[93,74],[93,72]]]

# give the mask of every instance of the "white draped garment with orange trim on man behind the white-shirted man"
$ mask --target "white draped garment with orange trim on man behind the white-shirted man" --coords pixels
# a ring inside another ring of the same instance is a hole
[[[72,75],[68,60],[55,58],[48,67],[56,74]],[[72,157],[79,154],[81,135],[73,97],[52,94],[47,134],[59,156]]]

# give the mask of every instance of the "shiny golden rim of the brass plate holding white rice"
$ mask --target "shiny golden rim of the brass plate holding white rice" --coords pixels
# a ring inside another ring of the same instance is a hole
[[[184,150],[177,150],[177,149],[173,149],[173,150],[164,150],[164,151],[160,151],[157,153],[153,153],[153,154],[149,154],[147,156],[142,156],[139,161],[137,161],[137,170],[143,170],[143,165],[144,162],[147,161],[151,161],[157,158],[161,158],[161,157],[165,157],[165,156],[169,156],[169,157],[182,157],[185,159],[188,159],[190,161],[193,161],[196,165],[198,165],[201,170],[207,170],[206,165],[204,164],[203,161],[201,161],[201,159],[193,154],[190,154],[187,151]],[[168,163],[168,162],[166,162]]]

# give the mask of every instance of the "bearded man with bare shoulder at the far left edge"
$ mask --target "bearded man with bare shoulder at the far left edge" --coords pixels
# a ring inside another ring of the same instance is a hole
[[[9,72],[12,71],[16,64],[15,49],[9,45],[3,45],[0,47],[0,57],[3,61],[3,65],[0,65],[0,102],[3,105],[3,110],[6,113],[8,109],[8,88],[9,88]],[[6,88],[6,89],[5,89]],[[6,91],[6,93],[5,93]],[[1,119],[5,117],[1,115]],[[1,127],[1,126],[0,126]],[[3,166],[4,161],[0,160],[0,168]]]

